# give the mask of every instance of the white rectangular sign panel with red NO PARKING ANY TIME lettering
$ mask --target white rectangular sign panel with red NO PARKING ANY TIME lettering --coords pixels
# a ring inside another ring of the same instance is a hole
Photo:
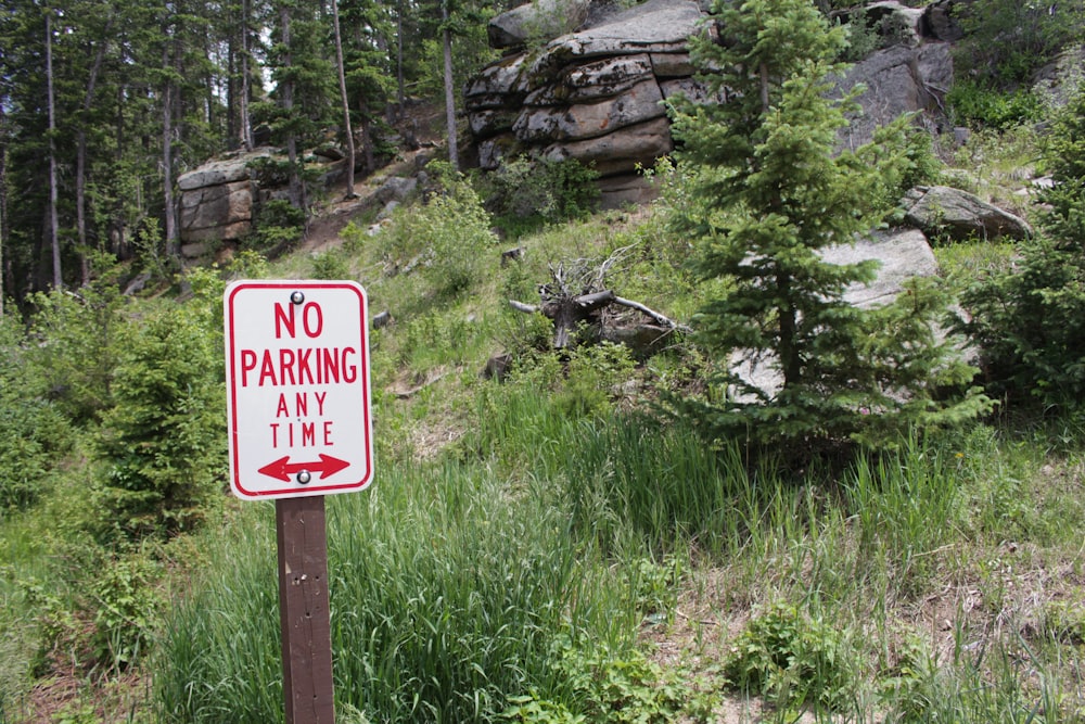
[[[289,498],[369,485],[366,291],[353,281],[235,281],[224,312],[234,495]]]

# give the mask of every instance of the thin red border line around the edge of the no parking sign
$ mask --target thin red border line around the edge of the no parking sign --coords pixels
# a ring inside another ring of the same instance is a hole
[[[359,330],[361,347],[361,385],[362,385],[362,415],[366,430],[365,447],[366,474],[352,483],[340,483],[336,485],[306,485],[304,488],[290,487],[272,491],[250,491],[241,482],[241,470],[239,465],[238,445],[238,401],[237,401],[237,359],[234,357],[233,330],[234,325],[234,297],[242,291],[256,289],[281,289],[306,292],[309,290],[347,289],[358,295],[359,318],[361,328]],[[229,410],[229,447],[230,447],[230,488],[234,495],[245,500],[272,500],[281,498],[306,497],[311,495],[329,495],[335,493],[354,493],[362,491],[373,481],[373,420],[372,420],[372,395],[370,393],[369,380],[369,297],[366,290],[355,281],[302,281],[302,280],[259,280],[234,281],[225,291],[224,321],[226,325],[225,346],[227,365],[227,407]]]

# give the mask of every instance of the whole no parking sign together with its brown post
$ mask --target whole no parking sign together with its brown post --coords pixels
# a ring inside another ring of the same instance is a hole
[[[368,300],[352,281],[224,295],[230,487],[276,501],[286,724],[334,724],[324,497],[372,482]]]

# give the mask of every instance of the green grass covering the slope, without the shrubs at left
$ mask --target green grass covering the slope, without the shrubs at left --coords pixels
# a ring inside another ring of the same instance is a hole
[[[999,417],[831,469],[752,466],[741,441],[652,417],[658,390],[692,379],[692,346],[637,366],[554,355],[538,351],[545,320],[507,309],[535,301],[549,263],[627,249],[615,291],[687,318],[704,290],[687,294],[688,250],[666,241],[658,219],[600,214],[521,239],[522,263],[495,258],[455,295],[384,275],[366,241],[334,259],[395,317],[372,334],[375,482],[328,501],[341,719],[728,721],[723,696],[742,721],[1085,721],[1080,422]],[[959,285],[1012,251],[936,253]],[[251,266],[290,278],[312,262]],[[502,348],[512,373],[481,379]],[[26,715],[42,643],[27,583],[67,600],[79,581],[63,560],[78,504],[55,497],[69,478],[0,522],[0,625],[15,634],[0,722]],[[148,554],[171,572],[169,606],[140,670],[153,700],[128,719],[282,721],[273,518],[227,506]],[[764,675],[740,681],[743,662]]]

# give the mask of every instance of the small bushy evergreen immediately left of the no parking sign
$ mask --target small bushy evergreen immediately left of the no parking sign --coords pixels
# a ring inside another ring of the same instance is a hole
[[[126,335],[97,442],[103,536],[191,530],[221,494],[221,348],[200,322],[190,307],[167,309]]]

